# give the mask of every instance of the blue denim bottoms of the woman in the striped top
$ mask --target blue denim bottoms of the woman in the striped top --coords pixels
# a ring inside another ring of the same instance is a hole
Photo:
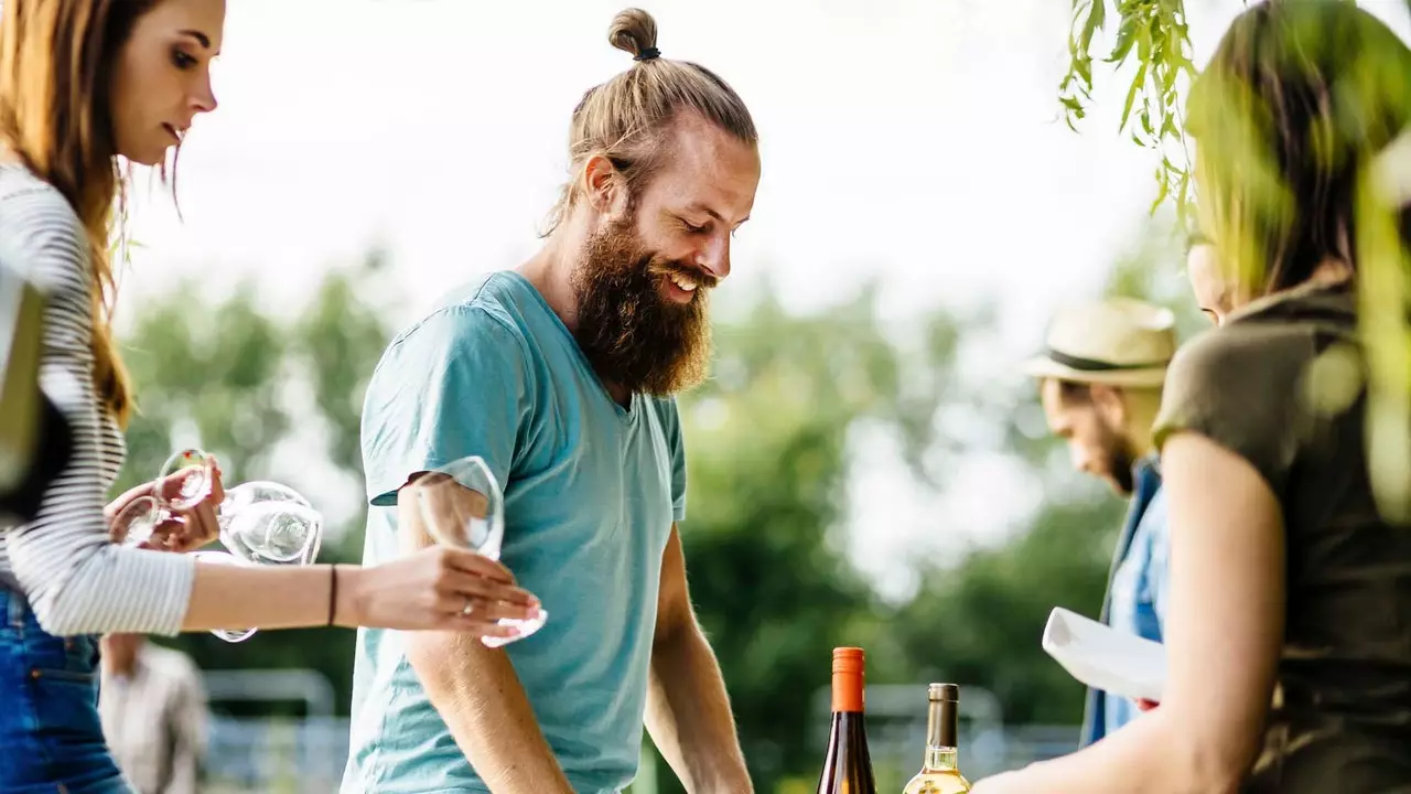
[[[55,637],[0,586],[0,794],[137,794],[103,739],[97,637]]]

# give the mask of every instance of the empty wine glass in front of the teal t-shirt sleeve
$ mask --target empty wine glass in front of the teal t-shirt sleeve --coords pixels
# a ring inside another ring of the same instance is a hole
[[[426,531],[453,548],[467,548],[499,559],[505,535],[505,497],[494,472],[477,455],[452,461],[429,470],[416,480],[416,503]],[[501,617],[501,626],[519,629],[518,637],[481,637],[487,647],[498,648],[522,640],[543,627],[549,613],[538,617]]]

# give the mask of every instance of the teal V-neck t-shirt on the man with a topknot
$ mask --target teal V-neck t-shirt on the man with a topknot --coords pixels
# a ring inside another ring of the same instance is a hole
[[[408,478],[467,455],[505,492],[501,561],[549,613],[504,650],[574,790],[619,791],[636,774],[662,552],[686,510],[676,403],[615,403],[539,291],[501,271],[394,339],[373,374],[364,564],[399,555]],[[350,739],[344,794],[488,793],[402,632],[358,632]]]

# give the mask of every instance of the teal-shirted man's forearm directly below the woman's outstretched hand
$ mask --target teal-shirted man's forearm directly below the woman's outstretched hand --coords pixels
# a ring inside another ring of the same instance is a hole
[[[495,794],[573,794],[504,651],[470,634],[416,632],[408,658],[456,745]]]

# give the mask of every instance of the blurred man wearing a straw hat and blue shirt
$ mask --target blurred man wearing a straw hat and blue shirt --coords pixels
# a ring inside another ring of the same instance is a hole
[[[1151,424],[1175,353],[1174,321],[1130,298],[1068,305],[1050,324],[1043,355],[1024,366],[1040,381],[1048,429],[1068,442],[1074,468],[1132,500],[1101,619],[1154,641],[1165,616],[1167,517]],[[1137,713],[1130,699],[1089,689],[1081,745]]]

